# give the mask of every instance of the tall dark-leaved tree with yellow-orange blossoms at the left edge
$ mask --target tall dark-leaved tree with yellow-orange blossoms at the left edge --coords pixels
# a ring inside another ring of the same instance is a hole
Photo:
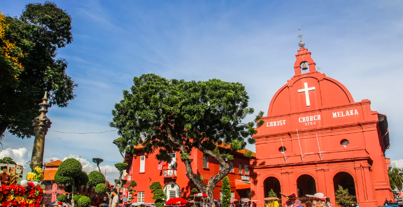
[[[7,129],[30,138],[45,91],[51,105],[65,107],[75,98],[67,61],[56,57],[73,40],[71,17],[55,3],[29,3],[20,17],[0,18],[2,29],[0,46],[11,46],[0,51],[0,138]]]

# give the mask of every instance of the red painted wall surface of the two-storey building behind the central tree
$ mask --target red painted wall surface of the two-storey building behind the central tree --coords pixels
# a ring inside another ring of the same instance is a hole
[[[191,181],[187,178],[185,174],[185,165],[184,163],[181,162],[179,153],[176,153],[176,158],[177,158],[177,163],[178,163],[178,169],[177,169],[177,178],[164,178],[163,177],[163,171],[158,170],[158,160],[155,158],[154,154],[148,155],[145,158],[145,172],[140,173],[140,156],[145,155],[144,152],[141,150],[137,153],[137,155],[132,156],[128,159],[128,169],[130,169],[125,176],[125,179],[127,179],[128,176],[131,177],[131,180],[135,180],[137,182],[137,187],[134,189],[137,190],[136,193],[138,192],[144,192],[144,203],[153,203],[154,201],[151,199],[152,193],[148,189],[148,186],[153,183],[153,182],[160,182],[162,185],[162,188],[164,188],[167,184],[171,182],[175,182],[179,185],[181,189],[181,197],[182,198],[190,198],[190,191],[193,188],[196,188]],[[230,180],[230,185],[231,185],[231,191],[234,191],[235,193],[235,198],[240,198],[239,192],[244,192],[244,190],[238,191],[236,190],[235,186],[235,180],[241,180],[241,176],[245,175],[244,171],[244,164],[249,165],[249,160],[250,158],[245,157],[241,153],[233,153],[234,155],[234,160],[231,160],[234,162],[234,173],[229,173],[228,178]],[[216,173],[219,172],[219,164],[218,162],[212,158],[208,157],[208,168],[203,168],[203,153],[197,149],[193,149],[191,155],[189,156],[189,159],[193,159],[191,162],[192,164],[192,169],[194,173],[200,174],[204,178],[204,183],[208,182],[208,178],[211,176],[215,175]],[[229,162],[229,161],[228,161]],[[242,163],[242,173],[239,173],[239,167],[238,163]],[[164,166],[163,169],[167,169],[167,166]],[[250,165],[249,165],[249,173],[250,173]],[[247,176],[249,174],[246,174]],[[128,188],[130,181],[127,182],[125,185],[125,188]],[[220,190],[221,190],[221,181],[217,184],[215,190],[214,190],[214,199],[219,200],[220,199]],[[245,194],[245,193],[243,193]],[[199,201],[200,198],[197,198],[196,201]],[[133,202],[138,201],[138,196],[134,196],[134,199],[132,200]]]

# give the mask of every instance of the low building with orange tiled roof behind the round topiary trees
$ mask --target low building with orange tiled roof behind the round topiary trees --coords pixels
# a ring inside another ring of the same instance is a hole
[[[45,185],[43,192],[43,205],[45,206],[52,206],[50,203],[55,202],[60,194],[67,194],[67,192],[64,191],[64,186],[55,183],[55,174],[56,171],[58,171],[60,163],[60,160],[56,160],[45,164],[45,170],[43,171],[44,178],[42,181],[42,184]],[[113,186],[111,186],[108,181],[105,182],[105,185],[109,187],[108,192],[111,192]],[[95,189],[92,187],[82,186],[76,192],[89,197],[90,192],[94,190]],[[95,192],[93,193],[95,194]],[[96,195],[92,199],[92,205],[96,203],[109,203],[108,201],[109,199],[106,193],[104,195]]]

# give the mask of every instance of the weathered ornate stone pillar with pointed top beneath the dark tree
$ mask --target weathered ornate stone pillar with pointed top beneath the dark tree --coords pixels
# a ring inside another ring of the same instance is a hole
[[[30,167],[32,171],[35,167],[39,166],[42,168],[43,166],[43,151],[45,148],[45,136],[50,128],[52,122],[46,117],[46,113],[48,112],[49,104],[47,104],[47,91],[42,98],[42,103],[39,104],[40,115],[36,117],[32,121],[32,126],[34,127],[35,132],[35,141],[34,147],[32,149],[32,157]]]

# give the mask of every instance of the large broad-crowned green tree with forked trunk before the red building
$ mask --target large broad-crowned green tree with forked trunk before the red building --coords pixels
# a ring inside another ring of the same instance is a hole
[[[239,150],[260,127],[263,113],[254,121],[242,123],[254,109],[248,107],[249,96],[240,83],[218,79],[184,81],[165,79],[155,74],[134,77],[131,90],[123,91],[123,100],[115,104],[111,127],[121,136],[119,149],[126,153],[142,144],[148,153],[156,152],[159,160],[171,161],[170,153],[180,152],[186,176],[199,190],[213,197],[216,184],[230,171],[217,145],[228,143],[231,150]],[[194,148],[216,159],[223,169],[204,184],[192,170],[189,155]],[[214,200],[211,199],[212,202]]]

